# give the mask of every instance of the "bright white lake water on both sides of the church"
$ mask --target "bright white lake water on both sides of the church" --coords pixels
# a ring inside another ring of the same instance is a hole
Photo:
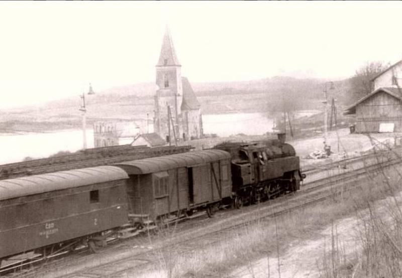
[[[312,112],[302,112],[303,115]],[[300,114],[301,115],[301,114]],[[264,113],[232,113],[203,115],[204,133],[230,136],[238,133],[261,135],[272,131],[273,119]],[[152,132],[153,126],[149,126]],[[146,132],[146,130],[143,130]],[[93,130],[86,131],[87,148],[93,148]],[[2,134],[0,133],[0,164],[22,161],[26,157],[45,158],[59,151],[75,152],[82,148],[82,130]]]

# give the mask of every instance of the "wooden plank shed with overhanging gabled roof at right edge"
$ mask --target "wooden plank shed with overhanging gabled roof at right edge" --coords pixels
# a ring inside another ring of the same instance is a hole
[[[349,106],[345,115],[356,116],[356,132],[402,132],[402,91],[378,88]]]

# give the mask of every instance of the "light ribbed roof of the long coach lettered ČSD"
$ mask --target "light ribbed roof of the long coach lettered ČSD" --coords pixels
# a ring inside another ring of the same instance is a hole
[[[115,166],[99,166],[0,181],[0,200],[74,188],[114,180],[128,179]]]

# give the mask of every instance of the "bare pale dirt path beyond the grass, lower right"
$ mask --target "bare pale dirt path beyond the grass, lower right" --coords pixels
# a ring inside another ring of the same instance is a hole
[[[400,204],[402,193],[399,193],[396,199]],[[384,216],[389,217],[387,208],[393,201],[391,197],[376,201],[373,209],[375,208],[377,215],[381,215],[385,220],[387,217]],[[345,268],[345,271],[353,271],[353,262],[357,261],[357,255],[362,248],[359,237],[361,232],[364,233],[362,219],[368,218],[369,211],[365,209],[355,213],[355,216],[339,219],[333,225],[328,225],[315,239],[291,242],[285,254],[279,254],[279,268],[277,255],[272,254],[269,258],[264,257],[238,267],[228,273],[228,277],[322,277],[326,276],[325,271],[332,271],[333,261],[335,267],[338,264],[338,267]]]

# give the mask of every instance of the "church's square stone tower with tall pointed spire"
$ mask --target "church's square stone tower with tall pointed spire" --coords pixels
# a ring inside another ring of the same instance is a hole
[[[181,65],[174,51],[169,29],[163,36],[159,61],[156,65],[154,129],[162,138],[170,136],[170,142],[180,137],[180,114],[182,103]]]

